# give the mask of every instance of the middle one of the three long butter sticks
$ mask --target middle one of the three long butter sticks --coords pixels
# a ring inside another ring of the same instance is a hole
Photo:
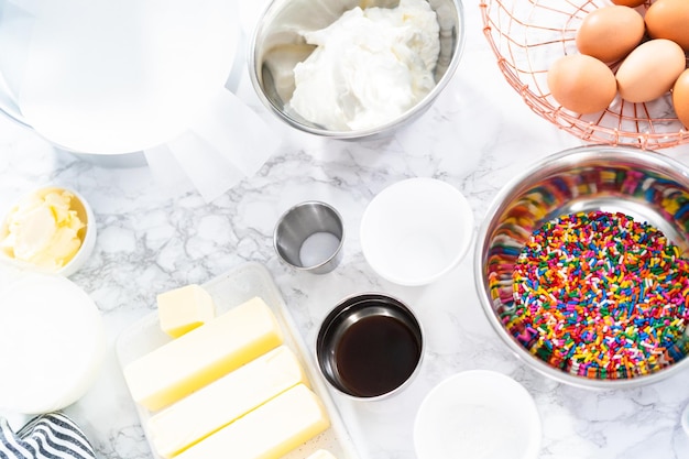
[[[299,361],[280,346],[152,416],[149,437],[172,458],[299,383],[308,384]]]

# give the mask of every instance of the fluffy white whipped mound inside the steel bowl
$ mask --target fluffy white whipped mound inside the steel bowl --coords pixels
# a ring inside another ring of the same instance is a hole
[[[317,47],[294,68],[288,109],[326,129],[371,129],[393,121],[436,85],[439,25],[425,0],[357,7],[304,37]]]

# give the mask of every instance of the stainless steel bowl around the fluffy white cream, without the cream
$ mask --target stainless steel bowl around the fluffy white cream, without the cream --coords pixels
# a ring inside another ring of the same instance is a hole
[[[314,46],[300,32],[324,29],[354,7],[394,8],[398,0],[273,0],[259,19],[251,37],[249,74],[259,99],[287,124],[333,139],[357,139],[389,133],[424,113],[455,74],[464,44],[461,0],[428,0],[440,26],[440,55],[435,88],[397,119],[372,129],[331,131],[309,122],[286,105],[294,91],[294,66],[306,59]]]

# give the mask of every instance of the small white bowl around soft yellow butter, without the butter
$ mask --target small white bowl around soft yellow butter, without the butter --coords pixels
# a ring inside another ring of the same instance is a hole
[[[4,253],[4,251],[0,251],[0,258],[2,259],[2,261],[15,267],[19,267],[21,270],[29,270],[29,271],[41,272],[41,273],[50,273],[50,274],[58,274],[63,276],[70,276],[72,274],[77,272],[84,265],[84,263],[86,263],[88,258],[94,252],[94,248],[96,247],[96,217],[94,216],[94,210],[91,209],[88,201],[84,198],[84,196],[81,196],[79,193],[77,193],[76,190],[72,188],[66,188],[62,186],[45,186],[45,187],[39,188],[36,190],[33,190],[22,196],[22,198],[20,198],[17,201],[17,204],[12,206],[8,215],[6,215],[6,217],[2,220],[2,225],[0,226],[0,241],[4,240],[4,238],[7,237],[9,232],[8,219],[10,215],[17,209],[17,207],[22,201],[33,196],[43,197],[43,196],[46,196],[48,193],[52,193],[55,190],[68,192],[74,196],[74,198],[70,201],[70,207],[72,209],[76,210],[77,216],[79,217],[79,220],[81,220],[81,222],[84,222],[85,225],[84,228],[80,229],[79,232],[77,233],[78,238],[81,240],[81,244],[77,253],[64,266],[59,267],[58,270],[50,270],[46,267],[37,266],[35,264],[22,261],[22,260],[17,260],[8,255],[7,253]]]

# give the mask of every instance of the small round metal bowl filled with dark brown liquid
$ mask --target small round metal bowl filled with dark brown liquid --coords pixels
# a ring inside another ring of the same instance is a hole
[[[418,372],[422,326],[401,300],[380,293],[351,296],[324,319],[316,359],[326,381],[358,400],[400,392]]]

